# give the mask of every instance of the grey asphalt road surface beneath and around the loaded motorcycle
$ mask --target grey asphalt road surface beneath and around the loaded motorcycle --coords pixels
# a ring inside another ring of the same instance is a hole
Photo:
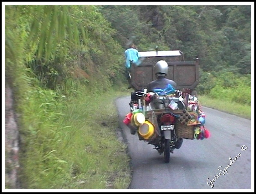
[[[132,158],[129,189],[251,189],[251,120],[202,107],[210,138],[184,139],[181,148],[171,153],[170,162],[164,163],[163,154],[139,141],[137,133],[132,135],[122,123],[130,112],[129,102],[129,96],[116,100],[119,123]]]

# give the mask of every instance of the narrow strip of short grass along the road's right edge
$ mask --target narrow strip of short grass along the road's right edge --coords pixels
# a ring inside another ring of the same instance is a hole
[[[209,96],[199,96],[198,98],[203,106],[247,119],[251,119],[252,117],[252,108],[247,104],[240,104],[228,100],[212,99]]]

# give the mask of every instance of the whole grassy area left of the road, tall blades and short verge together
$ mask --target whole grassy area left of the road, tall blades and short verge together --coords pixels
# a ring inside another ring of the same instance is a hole
[[[117,140],[119,126],[114,105],[115,98],[123,94],[111,91],[90,96],[88,93],[84,90],[66,101],[58,119],[52,118],[52,112],[59,111],[58,108],[46,113],[45,107],[38,108],[40,99],[31,99],[27,111],[34,108],[34,114],[25,119],[29,130],[22,135],[24,188],[128,188],[130,158],[126,144]]]

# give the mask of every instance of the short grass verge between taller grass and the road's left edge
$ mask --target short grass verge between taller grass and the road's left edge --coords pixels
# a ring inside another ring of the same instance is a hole
[[[76,189],[126,189],[130,183],[127,148],[116,137],[117,96],[114,91],[81,95],[68,107],[63,124],[73,126],[65,132],[63,153]]]

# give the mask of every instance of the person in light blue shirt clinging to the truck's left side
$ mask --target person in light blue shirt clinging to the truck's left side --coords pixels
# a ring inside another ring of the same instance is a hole
[[[124,55],[125,55],[125,59],[126,59],[126,61],[125,61],[125,67],[126,67],[125,77],[127,78],[127,81],[129,83],[128,89],[130,89],[130,88],[132,88],[131,77],[130,77],[131,66],[132,66],[132,64],[139,65],[139,52],[138,52],[136,46],[134,44],[131,44],[129,46],[129,48],[125,50]]]

